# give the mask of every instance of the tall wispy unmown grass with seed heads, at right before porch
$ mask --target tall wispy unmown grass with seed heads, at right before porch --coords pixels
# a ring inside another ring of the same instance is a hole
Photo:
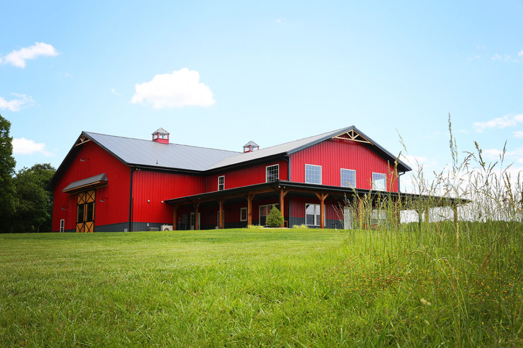
[[[398,200],[371,192],[345,200],[357,228],[368,230],[351,231],[346,245],[363,246],[361,286],[380,297],[380,289],[393,289],[387,316],[396,343],[400,334],[410,344],[419,342],[412,335],[431,345],[523,344],[521,173],[505,164],[506,146],[493,163],[477,143],[460,154],[450,115],[449,131],[452,164],[432,180],[418,166],[413,187],[422,196]],[[417,221],[401,223],[400,211]],[[354,272],[354,266],[346,271]],[[402,311],[418,315],[395,320]],[[423,319],[423,330],[413,319]]]

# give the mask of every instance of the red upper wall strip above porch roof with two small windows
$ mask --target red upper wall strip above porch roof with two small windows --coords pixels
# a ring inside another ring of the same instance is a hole
[[[263,183],[266,181],[265,168],[276,164],[280,166],[280,180],[287,180],[287,162],[283,160],[275,161],[258,166],[224,171],[208,176],[206,178],[206,192],[218,191],[218,177],[222,175],[225,176],[225,190]]]

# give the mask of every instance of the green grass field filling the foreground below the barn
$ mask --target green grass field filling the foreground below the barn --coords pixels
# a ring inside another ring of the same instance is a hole
[[[521,237],[451,236],[0,235],[0,346],[523,344]]]

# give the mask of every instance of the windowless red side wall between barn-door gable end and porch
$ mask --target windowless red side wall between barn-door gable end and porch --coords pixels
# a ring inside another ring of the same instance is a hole
[[[200,176],[135,170],[132,221],[170,225],[173,206],[165,200],[203,193],[203,188],[204,179]]]

